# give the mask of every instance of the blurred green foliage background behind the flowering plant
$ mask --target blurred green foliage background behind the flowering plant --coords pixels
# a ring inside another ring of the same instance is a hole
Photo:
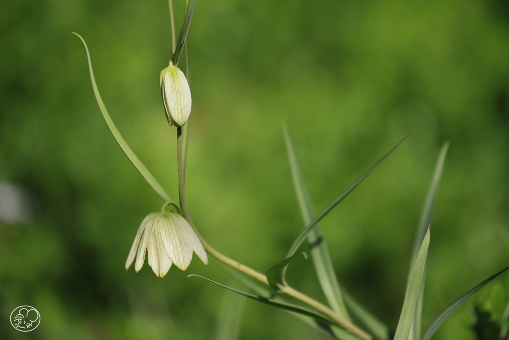
[[[139,223],[161,202],[109,133],[71,32],[87,41],[124,138],[177,197],[176,132],[158,83],[171,49],[167,3],[0,2],[0,339],[212,339],[224,292],[187,275],[228,283],[215,260],[195,256],[163,279],[147,264],[124,269]],[[265,271],[301,231],[285,120],[317,211],[420,129],[321,223],[340,282],[392,328],[445,140],[424,327],[509,264],[507,1],[199,0],[190,46],[187,197],[216,249]],[[325,300],[312,261],[295,261],[289,282]],[[473,306],[499,322],[508,285],[497,279],[435,338],[477,339]],[[10,326],[19,305],[39,310],[39,328]],[[240,332],[325,338],[253,301]]]

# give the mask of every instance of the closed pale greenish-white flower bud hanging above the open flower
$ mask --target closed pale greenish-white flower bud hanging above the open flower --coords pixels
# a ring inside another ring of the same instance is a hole
[[[182,126],[191,114],[191,90],[184,73],[172,62],[159,79],[162,102],[169,125]]]

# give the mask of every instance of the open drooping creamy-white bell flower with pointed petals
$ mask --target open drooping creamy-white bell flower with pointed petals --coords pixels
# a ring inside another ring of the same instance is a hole
[[[192,252],[206,265],[207,253],[202,243],[187,221],[176,213],[164,212],[149,214],[140,224],[131,251],[126,261],[129,269],[136,257],[134,270],[138,272],[149,255],[149,266],[159,277],[164,277],[172,264],[186,270],[191,263]]]

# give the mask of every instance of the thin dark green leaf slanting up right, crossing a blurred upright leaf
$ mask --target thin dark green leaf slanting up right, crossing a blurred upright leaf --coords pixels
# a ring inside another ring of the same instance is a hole
[[[340,203],[345,197],[348,196],[369,174],[373,172],[380,164],[382,164],[383,161],[395,150],[400,146],[401,143],[405,139],[407,139],[411,134],[413,134],[416,130],[412,131],[408,135],[406,135],[398,144],[396,144],[389,152],[387,152],[371,169],[367,170],[362,176],[359,177],[353,184],[347,188],[341,195],[337,196],[332,202],[327,205],[324,210],[318,214],[313,221],[311,221],[306,228],[299,234],[295,242],[293,243],[292,247],[288,251],[287,257],[292,256],[295,254],[299,246],[304,242],[304,240],[307,238],[309,232],[313,230],[313,228],[320,222],[338,203]]]

